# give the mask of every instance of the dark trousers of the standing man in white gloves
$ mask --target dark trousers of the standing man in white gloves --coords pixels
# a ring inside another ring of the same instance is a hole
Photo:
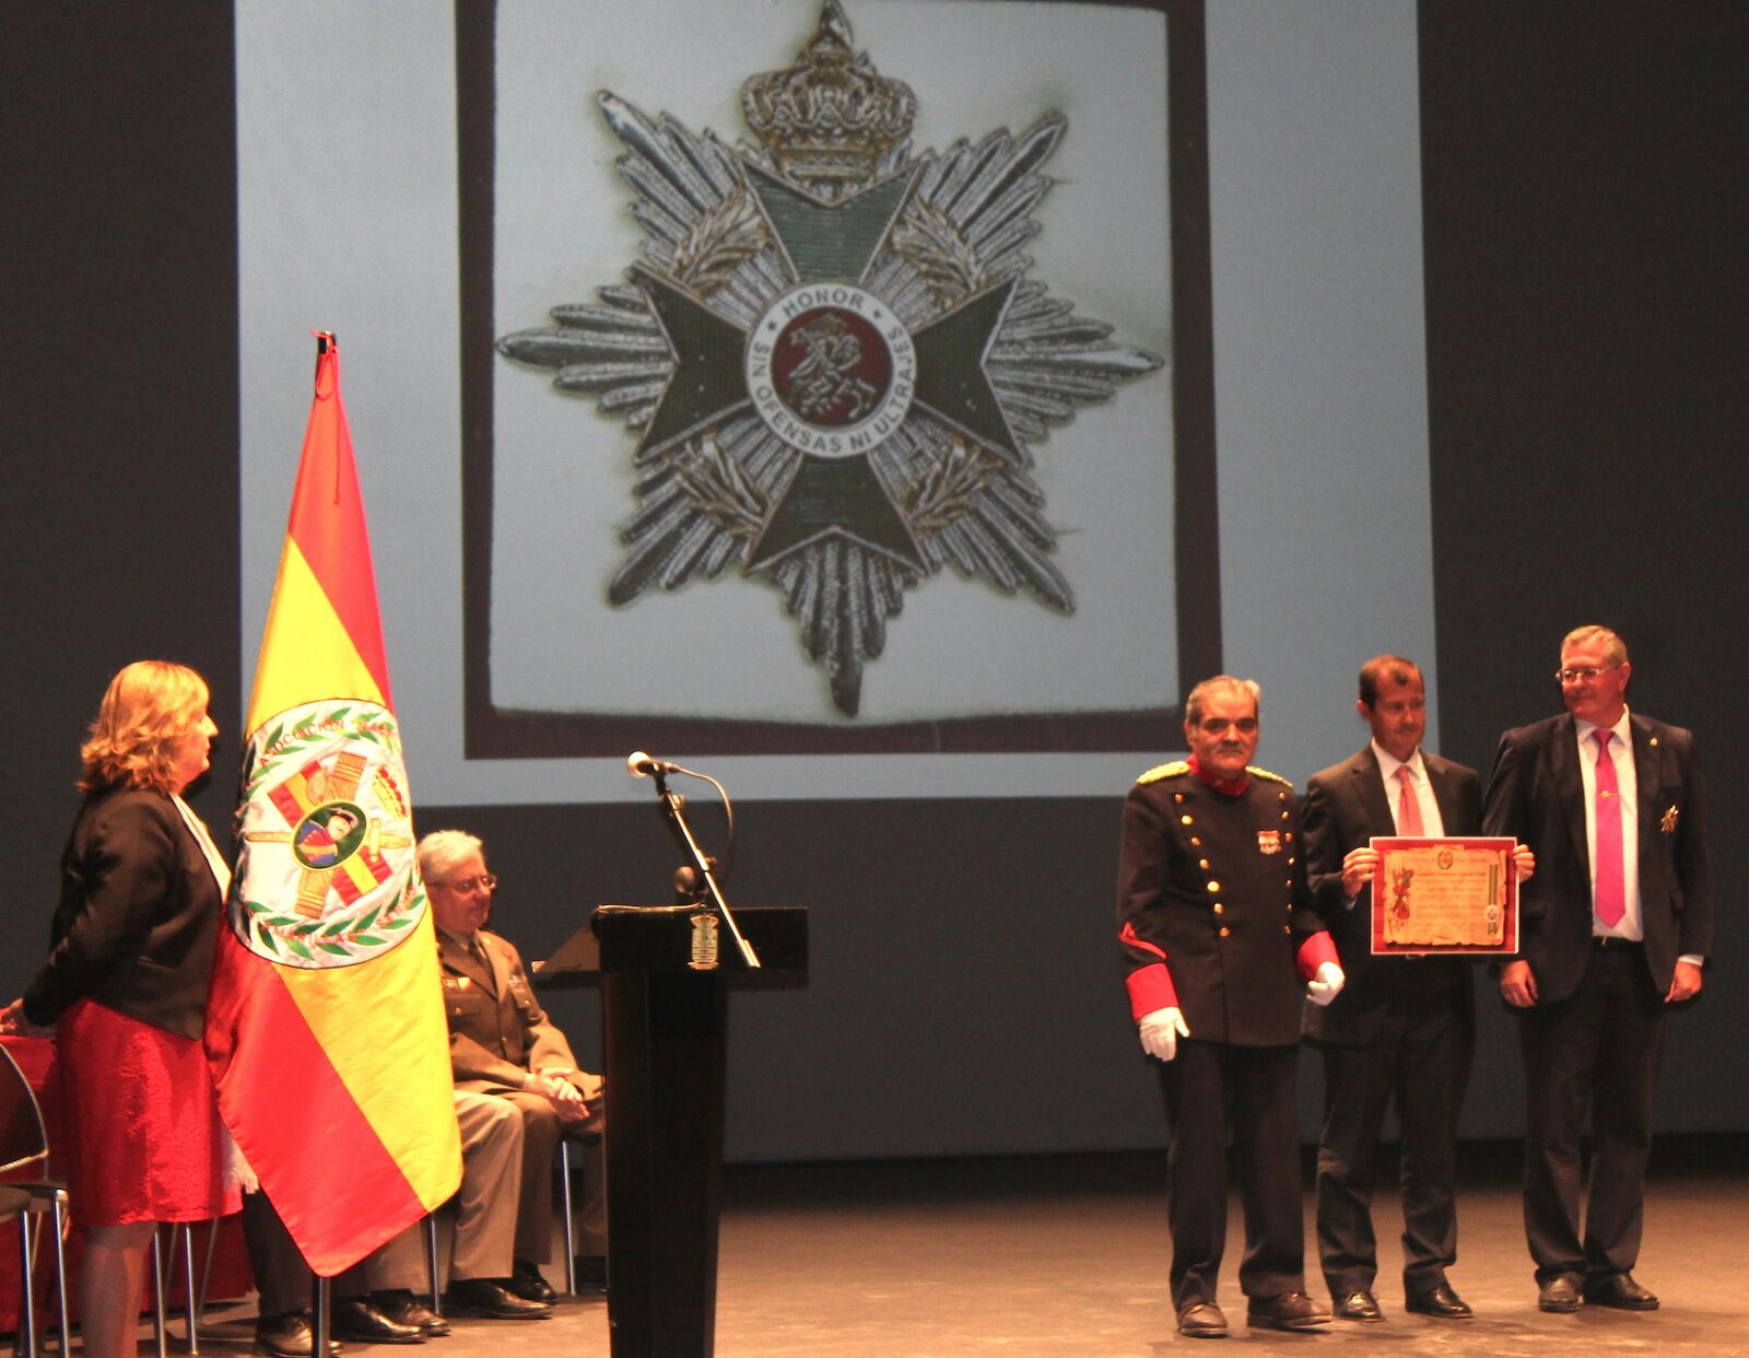
[[[1247,1297],[1305,1292],[1300,1214],[1300,1129],[1294,1116],[1298,1046],[1233,1046],[1186,1040],[1156,1062],[1172,1129],[1167,1162],[1172,1227],[1172,1302],[1216,1300],[1226,1251],[1226,1139],[1238,1152],[1245,1206]]]

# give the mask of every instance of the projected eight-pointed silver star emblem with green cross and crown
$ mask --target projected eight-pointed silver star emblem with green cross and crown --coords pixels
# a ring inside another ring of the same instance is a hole
[[[1072,612],[1030,444],[1161,359],[1028,276],[1067,119],[913,152],[916,96],[854,51],[838,0],[794,65],[742,86],[757,145],[598,105],[644,257],[498,350],[638,430],[609,600],[759,579],[847,716],[943,567]]]

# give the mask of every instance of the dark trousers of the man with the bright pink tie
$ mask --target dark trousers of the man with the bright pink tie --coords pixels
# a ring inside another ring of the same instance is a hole
[[[1539,1283],[1602,1278],[1639,1258],[1663,996],[1637,945],[1592,945],[1579,987],[1520,1015],[1525,1057],[1525,1236]],[[1585,1113],[1592,1181],[1579,1234]]]

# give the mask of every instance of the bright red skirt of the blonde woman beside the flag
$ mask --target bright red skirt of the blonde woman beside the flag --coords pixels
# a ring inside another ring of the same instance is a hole
[[[241,1208],[224,1185],[224,1132],[206,1050],[93,999],[61,1015],[56,1164],[73,1220],[203,1222]]]

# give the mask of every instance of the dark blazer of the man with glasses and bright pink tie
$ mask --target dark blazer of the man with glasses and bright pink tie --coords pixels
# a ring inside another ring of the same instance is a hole
[[[1681,726],[1628,718],[1639,782],[1639,889],[1646,964],[1663,994],[1683,954],[1712,952],[1712,861],[1707,793],[1695,737]],[[1501,737],[1483,826],[1536,852],[1536,877],[1518,896],[1520,954],[1537,1003],[1565,999],[1590,957],[1592,864],[1585,844],[1585,782],[1574,721],[1564,714]]]

